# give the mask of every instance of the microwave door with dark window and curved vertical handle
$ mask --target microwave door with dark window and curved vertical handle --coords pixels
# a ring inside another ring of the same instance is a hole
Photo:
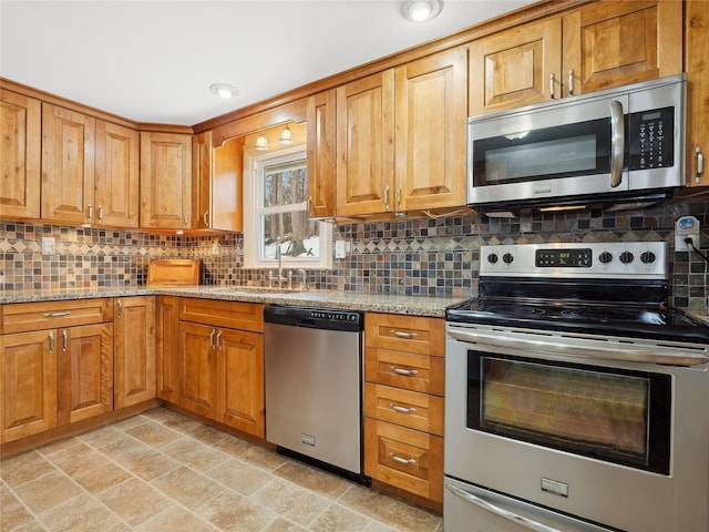
[[[627,96],[469,123],[469,203],[628,190]]]

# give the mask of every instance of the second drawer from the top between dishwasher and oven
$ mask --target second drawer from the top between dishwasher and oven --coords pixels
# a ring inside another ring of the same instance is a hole
[[[438,357],[368,347],[364,380],[443,396],[445,361]]]

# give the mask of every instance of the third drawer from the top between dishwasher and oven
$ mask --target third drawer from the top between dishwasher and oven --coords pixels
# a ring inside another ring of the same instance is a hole
[[[367,382],[364,416],[443,436],[441,397]]]

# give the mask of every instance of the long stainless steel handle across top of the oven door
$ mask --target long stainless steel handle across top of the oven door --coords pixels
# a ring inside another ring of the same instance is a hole
[[[598,358],[602,360],[624,360],[630,362],[665,364],[670,366],[698,366],[706,364],[709,358],[702,354],[661,355],[650,349],[626,349],[615,347],[579,347],[561,346],[551,341],[515,339],[502,336],[485,335],[484,332],[469,332],[449,330],[449,335],[460,341],[480,344],[482,346],[537,349],[561,355]]]

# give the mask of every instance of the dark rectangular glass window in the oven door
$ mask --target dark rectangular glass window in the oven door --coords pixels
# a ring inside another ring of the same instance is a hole
[[[469,351],[469,427],[669,474],[671,378]]]

